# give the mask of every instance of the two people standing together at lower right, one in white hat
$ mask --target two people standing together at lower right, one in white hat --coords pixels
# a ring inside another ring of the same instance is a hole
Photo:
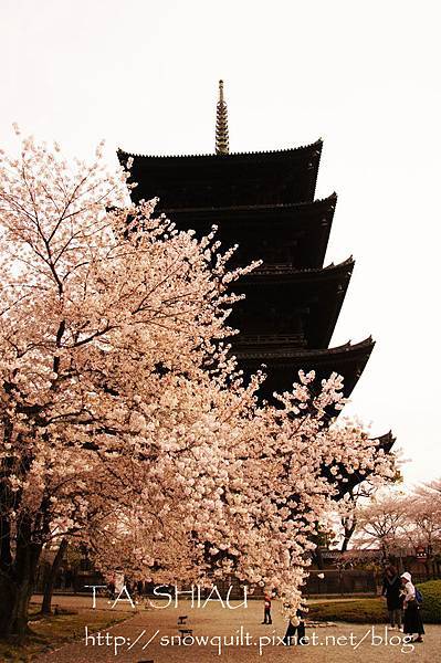
[[[389,565],[386,567],[381,594],[386,597],[390,628],[402,630],[412,636],[413,642],[422,642],[424,627],[412,576],[408,571],[400,576],[397,568]]]

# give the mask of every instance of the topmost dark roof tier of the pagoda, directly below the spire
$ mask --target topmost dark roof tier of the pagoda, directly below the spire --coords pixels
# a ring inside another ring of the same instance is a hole
[[[164,209],[290,203],[314,200],[322,140],[272,151],[150,156],[118,150],[133,159],[132,198],[158,197]],[[270,183],[270,186],[269,186]]]

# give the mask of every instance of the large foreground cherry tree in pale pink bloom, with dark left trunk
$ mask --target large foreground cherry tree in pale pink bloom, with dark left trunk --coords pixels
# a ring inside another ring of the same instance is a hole
[[[245,385],[224,340],[246,270],[132,206],[126,180],[99,150],[69,166],[28,138],[1,155],[0,636],[25,631],[61,536],[144,577],[234,572],[295,612],[338,482],[393,472],[359,427],[324,424],[337,376],[259,404],[263,376]]]

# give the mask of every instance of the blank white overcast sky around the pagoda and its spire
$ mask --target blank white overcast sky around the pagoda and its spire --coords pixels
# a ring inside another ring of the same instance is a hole
[[[324,138],[336,190],[327,262],[356,257],[333,345],[377,340],[347,414],[390,428],[409,484],[441,475],[439,3],[420,0],[3,0],[0,144],[11,124],[69,152],[105,138],[213,151],[225,81],[232,151]],[[305,367],[307,368],[307,367]]]

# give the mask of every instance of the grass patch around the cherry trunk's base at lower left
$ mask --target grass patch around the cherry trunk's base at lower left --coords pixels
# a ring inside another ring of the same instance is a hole
[[[27,662],[36,654],[57,649],[84,635],[85,627],[93,631],[107,629],[112,624],[124,621],[132,615],[129,612],[112,612],[95,610],[78,610],[77,614],[60,614],[44,617],[34,621],[34,610],[31,611],[30,633],[19,645],[0,641],[0,661]],[[32,614],[33,613],[33,614]]]

